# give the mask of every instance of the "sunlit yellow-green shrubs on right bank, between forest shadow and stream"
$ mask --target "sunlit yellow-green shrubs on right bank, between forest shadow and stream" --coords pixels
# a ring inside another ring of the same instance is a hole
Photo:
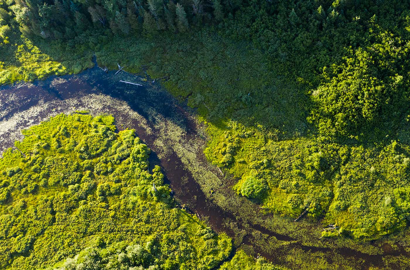
[[[238,194],[251,197],[250,182],[267,183],[257,198],[266,211],[296,218],[324,216],[334,230],[323,236],[379,238],[402,229],[410,215],[410,147],[391,141],[363,147],[317,138],[278,140],[234,121],[209,124],[206,156],[241,180]],[[227,158],[228,156],[228,158]]]

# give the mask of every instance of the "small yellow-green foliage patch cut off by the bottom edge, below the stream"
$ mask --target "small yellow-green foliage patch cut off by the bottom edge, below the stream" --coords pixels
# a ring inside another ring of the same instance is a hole
[[[273,265],[264,258],[254,259],[246,255],[243,250],[238,250],[233,258],[224,263],[220,270],[287,270],[288,268]]]

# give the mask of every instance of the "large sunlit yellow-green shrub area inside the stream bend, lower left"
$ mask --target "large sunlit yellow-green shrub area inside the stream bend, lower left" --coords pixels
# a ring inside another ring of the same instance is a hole
[[[79,113],[22,131],[0,159],[0,268],[212,269],[228,257],[230,238],[173,208],[135,131],[114,131],[112,116]]]

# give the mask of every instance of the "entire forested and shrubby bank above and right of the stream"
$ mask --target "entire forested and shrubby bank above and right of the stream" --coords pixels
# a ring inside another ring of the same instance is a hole
[[[78,72],[93,54],[148,65],[198,108],[205,154],[241,178],[238,194],[324,218],[323,236],[407,226],[407,1],[0,3],[1,83]]]

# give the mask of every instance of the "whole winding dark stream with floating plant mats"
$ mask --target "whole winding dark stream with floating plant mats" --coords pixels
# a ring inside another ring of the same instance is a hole
[[[237,247],[255,256],[261,254],[291,268],[297,264],[288,261],[287,254],[304,256],[305,260],[321,257],[326,264],[317,269],[383,268],[386,259],[410,256],[399,243],[400,235],[389,243],[383,239],[373,243],[319,241],[317,224],[302,220],[294,225],[286,218],[258,215],[254,204],[233,193],[232,179],[223,177],[205,160],[206,135],[193,110],[144,75],[114,73],[95,67],[20,88],[1,87],[0,152],[12,147],[14,140],[21,140],[21,129],[59,113],[88,110],[93,115],[112,114],[119,130],[136,129],[152,149],[150,166],[163,168],[181,207],[204,219],[215,231],[226,232]],[[353,268],[339,268],[339,263]]]

